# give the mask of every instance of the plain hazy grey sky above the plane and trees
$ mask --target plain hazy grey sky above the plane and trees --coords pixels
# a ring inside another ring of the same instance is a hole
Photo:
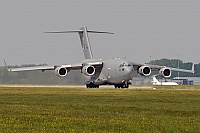
[[[0,0],[0,66],[70,64],[84,59],[77,33],[89,34],[94,58],[200,62],[199,0]]]

